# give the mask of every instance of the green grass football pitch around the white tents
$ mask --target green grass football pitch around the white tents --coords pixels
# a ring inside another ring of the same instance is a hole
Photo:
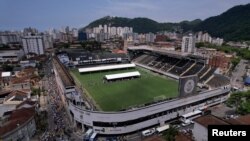
[[[107,74],[139,71],[140,78],[103,83]],[[161,98],[176,97],[177,81],[163,78],[142,68],[112,70],[80,74],[77,69],[71,70],[74,79],[87,90],[103,111],[118,111],[153,102]]]

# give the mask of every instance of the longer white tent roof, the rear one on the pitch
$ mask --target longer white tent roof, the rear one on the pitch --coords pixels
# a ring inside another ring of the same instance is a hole
[[[121,65],[108,65],[108,66],[100,66],[100,67],[90,67],[90,68],[79,68],[79,72],[94,72],[94,71],[102,71],[102,70],[114,70],[114,69],[123,69],[123,68],[133,68],[135,64],[121,64]]]

